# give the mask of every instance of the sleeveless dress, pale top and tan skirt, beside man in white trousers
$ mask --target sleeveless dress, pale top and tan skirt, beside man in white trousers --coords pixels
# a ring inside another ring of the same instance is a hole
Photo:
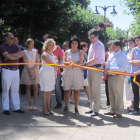
[[[25,56],[27,63],[35,63],[36,62],[36,50],[32,51],[25,50]],[[34,67],[34,65],[28,65],[30,68]],[[24,69],[21,74],[20,84],[24,85],[35,85],[39,84],[39,68],[37,67],[34,71],[34,78],[30,78],[30,74],[27,68],[24,66]]]

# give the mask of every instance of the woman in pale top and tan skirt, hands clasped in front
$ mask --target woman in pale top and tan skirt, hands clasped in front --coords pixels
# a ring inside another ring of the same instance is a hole
[[[34,40],[27,39],[25,55],[23,57],[24,63],[38,63],[38,51],[34,49]],[[38,96],[38,84],[39,84],[39,68],[38,65],[25,65],[21,75],[20,84],[26,85],[26,93],[29,103],[29,110],[37,110],[37,96]],[[31,85],[34,89],[34,106],[31,102]]]

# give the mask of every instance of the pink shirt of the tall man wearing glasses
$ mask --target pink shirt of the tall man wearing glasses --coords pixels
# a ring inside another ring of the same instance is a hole
[[[105,48],[104,45],[97,40],[94,44],[90,45],[89,52],[88,52],[88,61],[90,61],[93,58],[98,58],[98,60],[89,66],[95,65],[95,64],[103,64],[105,61]]]

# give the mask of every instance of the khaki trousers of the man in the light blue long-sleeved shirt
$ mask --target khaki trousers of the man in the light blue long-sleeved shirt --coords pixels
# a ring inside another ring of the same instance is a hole
[[[108,76],[110,112],[122,115],[124,110],[123,90],[124,75]]]

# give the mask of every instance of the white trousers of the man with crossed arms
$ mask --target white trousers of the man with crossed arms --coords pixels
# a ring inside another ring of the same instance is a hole
[[[2,68],[2,108],[9,110],[9,90],[12,109],[20,109],[19,99],[19,70],[12,71]]]

